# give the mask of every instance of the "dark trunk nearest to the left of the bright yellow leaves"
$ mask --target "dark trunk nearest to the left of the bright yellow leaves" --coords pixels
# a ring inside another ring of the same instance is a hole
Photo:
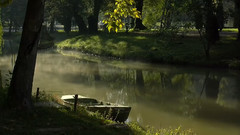
[[[88,18],[88,29],[90,33],[98,32],[98,15],[103,0],[94,0],[94,11],[93,15]]]

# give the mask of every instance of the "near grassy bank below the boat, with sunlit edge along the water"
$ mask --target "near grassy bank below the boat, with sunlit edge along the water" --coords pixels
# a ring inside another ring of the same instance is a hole
[[[56,101],[43,98],[40,102]],[[1,106],[0,106],[1,108]],[[33,111],[0,111],[0,134],[24,135],[193,135],[191,130],[180,127],[154,129],[142,128],[137,123],[117,123],[84,108],[73,112],[69,108],[35,107]]]

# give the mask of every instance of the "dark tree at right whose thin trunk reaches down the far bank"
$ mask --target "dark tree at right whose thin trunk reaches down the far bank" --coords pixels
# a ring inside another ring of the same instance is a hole
[[[219,40],[218,19],[213,0],[192,0],[190,10],[193,12],[195,27],[198,29],[206,59],[210,58],[211,46]]]

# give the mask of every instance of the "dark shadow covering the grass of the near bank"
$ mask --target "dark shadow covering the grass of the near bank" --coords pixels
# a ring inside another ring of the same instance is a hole
[[[117,129],[106,124],[104,119],[88,116],[84,112],[69,112],[66,109],[35,108],[34,112],[0,112],[0,134],[133,134],[130,129]]]

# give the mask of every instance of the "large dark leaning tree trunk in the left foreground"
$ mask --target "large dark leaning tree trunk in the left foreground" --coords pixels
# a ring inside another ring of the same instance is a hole
[[[23,32],[8,91],[10,108],[31,110],[32,83],[45,0],[28,0]]]

